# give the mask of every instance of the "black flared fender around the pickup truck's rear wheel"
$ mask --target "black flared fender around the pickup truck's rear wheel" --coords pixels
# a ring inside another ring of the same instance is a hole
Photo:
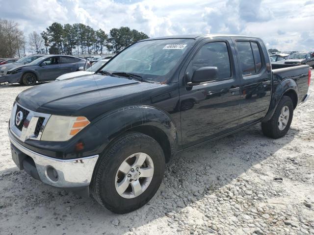
[[[299,92],[297,83],[292,78],[285,78],[281,74],[274,74],[269,109],[266,116],[262,119],[262,121],[268,121],[270,120],[270,118],[272,118],[276,111],[279,101],[281,100],[283,95],[288,91],[293,91],[296,94],[296,97],[298,97]]]

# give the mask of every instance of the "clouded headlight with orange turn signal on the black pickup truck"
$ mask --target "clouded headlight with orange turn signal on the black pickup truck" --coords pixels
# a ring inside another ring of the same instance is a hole
[[[44,128],[41,141],[68,141],[90,121],[85,117],[52,115]]]

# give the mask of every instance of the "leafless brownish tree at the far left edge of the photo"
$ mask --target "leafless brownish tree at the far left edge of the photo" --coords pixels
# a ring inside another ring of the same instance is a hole
[[[24,44],[23,31],[14,21],[0,20],[0,57],[14,57]]]

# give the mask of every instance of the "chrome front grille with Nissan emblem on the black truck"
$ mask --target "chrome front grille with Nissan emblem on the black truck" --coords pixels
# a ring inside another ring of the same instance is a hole
[[[23,124],[23,128],[22,131],[20,131],[16,126],[15,126],[15,115],[16,115],[16,110],[17,110],[17,106],[20,106],[21,108],[27,110],[29,113],[24,121]],[[25,108],[23,105],[20,105],[19,103],[15,102],[13,105],[13,109],[11,111],[11,118],[10,118],[10,125],[9,128],[12,132],[12,134],[18,138],[21,141],[26,141],[28,139],[32,139],[32,140],[40,140],[41,136],[43,134],[43,130],[45,128],[45,125],[47,124],[47,121],[49,120],[49,118],[51,117],[50,114],[43,114],[43,113],[38,113],[38,112],[34,112],[32,110],[29,110],[27,108]],[[35,129],[36,129],[36,125],[37,125],[37,121],[38,118],[45,118],[41,129],[39,131],[38,136],[35,136]],[[26,124],[28,123],[28,125],[26,126]]]

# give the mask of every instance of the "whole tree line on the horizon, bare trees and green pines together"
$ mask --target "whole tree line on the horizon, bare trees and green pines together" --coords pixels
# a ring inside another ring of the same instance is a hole
[[[14,21],[0,20],[0,58],[33,54],[118,53],[134,42],[149,38],[129,27],[112,28],[109,33],[85,24],[53,23],[43,32],[33,31],[28,38]]]

